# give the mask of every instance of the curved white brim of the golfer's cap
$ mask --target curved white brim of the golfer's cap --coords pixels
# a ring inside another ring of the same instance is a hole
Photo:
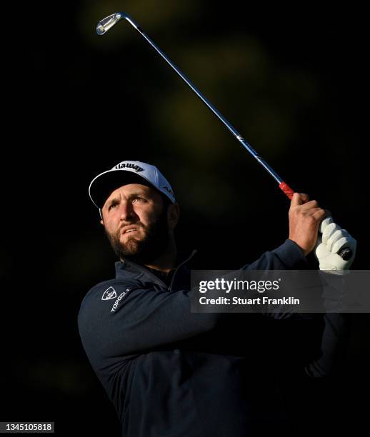
[[[94,204],[101,209],[114,190],[127,184],[142,184],[155,188],[139,174],[124,170],[109,170],[100,174],[91,182],[89,195]]]

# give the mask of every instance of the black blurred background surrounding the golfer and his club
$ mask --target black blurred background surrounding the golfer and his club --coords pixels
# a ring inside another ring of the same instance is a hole
[[[89,201],[96,174],[154,164],[181,206],[176,234],[204,268],[236,268],[284,242],[289,201],[129,24],[124,10],[296,189],[358,240],[368,268],[367,34],[354,4],[228,1],[32,4],[4,20],[0,420],[118,435],[81,348],[81,298],[114,274]],[[113,8],[113,9],[111,9]],[[5,57],[5,55],[4,55]],[[369,318],[356,314],[343,376],[359,435]]]

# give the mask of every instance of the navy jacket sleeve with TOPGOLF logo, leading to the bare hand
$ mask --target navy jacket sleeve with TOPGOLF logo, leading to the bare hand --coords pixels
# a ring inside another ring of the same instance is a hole
[[[302,261],[301,249],[287,240],[245,268],[294,268]],[[211,331],[226,316],[191,313],[191,290],[166,291],[112,283],[117,296],[124,293],[114,311],[114,300],[102,301],[104,288],[99,286],[91,289],[81,303],[79,332],[88,355],[97,350],[105,357],[150,350]]]

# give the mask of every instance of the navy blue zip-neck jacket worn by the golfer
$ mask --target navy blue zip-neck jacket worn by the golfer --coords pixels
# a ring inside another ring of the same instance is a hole
[[[117,262],[116,278],[81,303],[81,341],[122,436],[264,436],[276,426],[294,435],[296,381],[330,373],[346,328],[341,315],[191,313],[193,256],[169,286],[144,266]],[[304,269],[306,258],[286,240],[244,268]]]

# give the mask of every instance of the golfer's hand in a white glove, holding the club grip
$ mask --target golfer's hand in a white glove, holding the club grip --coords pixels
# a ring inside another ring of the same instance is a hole
[[[349,233],[334,223],[333,218],[321,221],[319,237],[314,253],[319,261],[320,270],[349,270],[356,254],[357,241]],[[350,248],[352,256],[344,261],[338,252]]]

